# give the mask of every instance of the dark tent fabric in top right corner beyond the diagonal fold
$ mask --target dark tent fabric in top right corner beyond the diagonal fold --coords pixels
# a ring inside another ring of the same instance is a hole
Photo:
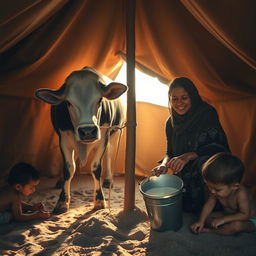
[[[254,33],[255,11],[254,1],[205,1],[181,0],[184,6],[193,14],[212,36],[219,40],[233,54],[237,55],[252,69],[256,69],[251,41],[255,41]],[[248,8],[248,7],[252,8]],[[221,10],[221,11],[218,11]],[[229,20],[227,17],[232,15]],[[235,19],[233,17],[236,17]],[[243,36],[241,37],[241,31]]]

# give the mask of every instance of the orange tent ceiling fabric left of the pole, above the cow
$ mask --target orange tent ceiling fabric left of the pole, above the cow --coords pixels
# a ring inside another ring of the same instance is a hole
[[[122,63],[116,54],[123,47],[122,4],[116,1],[113,7],[105,1],[69,1],[39,28],[35,27],[26,38],[3,52],[1,95],[34,97],[35,89],[58,88],[70,72],[84,66],[93,66],[112,76]],[[24,27],[28,25],[25,18],[22,22]],[[8,22],[2,26],[1,39],[8,31],[21,33],[15,24],[10,26]],[[7,47],[4,42],[2,45],[2,49]]]

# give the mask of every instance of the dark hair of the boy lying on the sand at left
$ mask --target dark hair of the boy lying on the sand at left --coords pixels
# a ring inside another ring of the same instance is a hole
[[[21,184],[22,186],[28,184],[31,180],[39,180],[39,172],[28,163],[15,164],[8,176],[8,184]]]

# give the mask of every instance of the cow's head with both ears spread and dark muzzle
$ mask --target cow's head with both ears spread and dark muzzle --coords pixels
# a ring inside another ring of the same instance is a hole
[[[58,90],[38,89],[35,95],[51,105],[66,102],[76,140],[90,143],[100,139],[102,101],[117,99],[126,90],[121,83],[106,85],[94,69],[86,67],[72,72]]]

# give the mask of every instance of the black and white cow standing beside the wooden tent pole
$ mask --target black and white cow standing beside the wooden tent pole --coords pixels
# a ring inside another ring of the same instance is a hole
[[[68,210],[70,183],[76,169],[76,160],[84,166],[91,150],[94,151],[91,172],[94,179],[94,208],[105,207],[102,190],[102,158],[109,154],[109,136],[124,125],[125,107],[119,96],[127,86],[111,82],[106,85],[93,68],[72,72],[58,90],[38,89],[35,95],[51,104],[51,118],[59,135],[64,160],[61,194],[55,213]],[[110,161],[110,156],[105,158]],[[106,179],[112,185],[110,162],[106,163]]]

